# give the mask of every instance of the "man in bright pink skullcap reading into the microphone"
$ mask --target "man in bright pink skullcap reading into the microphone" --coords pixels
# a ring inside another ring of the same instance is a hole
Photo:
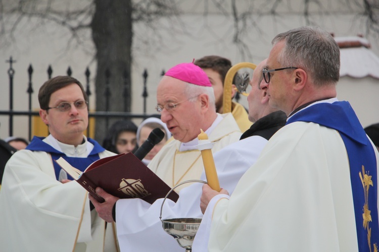
[[[170,187],[199,179],[203,171],[198,135],[202,129],[214,143],[213,152],[238,141],[241,131],[231,113],[218,114],[212,84],[193,63],[169,69],[157,88],[157,110],[175,140],[167,143],[148,167]],[[175,188],[188,186],[183,184]]]

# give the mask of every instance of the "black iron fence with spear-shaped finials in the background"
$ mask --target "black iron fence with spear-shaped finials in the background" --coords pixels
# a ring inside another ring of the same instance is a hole
[[[8,115],[9,116],[9,136],[13,136],[13,129],[14,129],[14,125],[13,125],[13,117],[14,116],[27,116],[28,117],[28,137],[29,137],[29,141],[31,140],[31,137],[32,137],[32,117],[33,116],[39,116],[39,113],[38,111],[32,111],[32,94],[33,94],[33,84],[32,84],[32,75],[33,75],[33,67],[32,65],[30,64],[29,65],[29,68],[27,70],[27,73],[28,73],[28,89],[27,89],[27,93],[28,93],[28,109],[27,110],[24,110],[24,111],[14,111],[13,109],[13,102],[14,102],[14,85],[13,85],[13,79],[14,79],[14,75],[15,75],[15,70],[13,69],[13,64],[16,62],[12,56],[6,61],[7,63],[9,63],[9,69],[8,69],[8,76],[9,76],[9,110],[0,110],[0,115]],[[52,66],[50,65],[48,70],[47,70],[47,74],[48,74],[48,77],[49,79],[52,78],[52,73],[53,73],[53,69],[52,69]],[[72,71],[71,71],[71,68],[68,67],[67,69],[67,75],[68,76],[71,76],[72,74]],[[85,92],[88,96],[88,100],[90,99],[90,96],[91,96],[91,90],[90,90],[90,86],[89,86],[89,80],[90,80],[90,71],[88,68],[86,68],[85,72],[85,77],[86,77],[86,85],[85,85]],[[110,78],[110,71],[106,71],[105,73],[106,75],[106,80],[109,80]],[[162,74],[161,75],[164,75],[164,71],[162,71]],[[88,116],[91,118],[91,117],[94,117],[94,118],[105,118],[106,119],[106,128],[108,129],[108,124],[109,124],[109,119],[110,118],[129,118],[129,119],[132,119],[132,118],[146,118],[149,116],[149,114],[146,113],[146,101],[148,99],[148,91],[147,91],[147,78],[148,78],[148,71],[145,69],[144,73],[143,73],[143,78],[144,78],[144,91],[143,91],[143,103],[144,103],[144,112],[143,113],[132,113],[132,112],[115,112],[115,111],[94,111],[94,112],[91,112],[90,111],[90,107],[88,107]],[[127,76],[127,74],[124,74],[123,75],[123,85],[126,89],[127,85],[130,85],[129,83],[129,78]],[[84,86],[84,84],[83,84]],[[109,99],[110,99],[110,89],[107,89],[106,90],[106,104],[109,104]],[[128,95],[126,92],[124,92],[124,96]],[[106,106],[106,110],[107,109],[107,106]],[[125,107],[125,111],[127,111],[128,108]],[[88,121],[88,123],[90,124],[90,120]],[[87,128],[87,133],[86,135],[89,136],[90,134],[90,125],[88,124],[88,128]]]

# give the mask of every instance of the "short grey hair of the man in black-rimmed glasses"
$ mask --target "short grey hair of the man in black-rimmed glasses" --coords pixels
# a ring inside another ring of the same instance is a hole
[[[329,33],[319,27],[303,26],[276,35],[272,44],[282,40],[286,43],[278,55],[282,67],[303,69],[316,86],[338,82],[340,48]]]

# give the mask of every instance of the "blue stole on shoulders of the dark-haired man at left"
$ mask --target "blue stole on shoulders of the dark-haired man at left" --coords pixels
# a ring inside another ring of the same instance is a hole
[[[42,141],[43,138],[40,137],[33,137],[32,141],[30,144],[26,147],[27,150],[31,151],[44,151],[48,152],[52,156],[52,162],[54,165],[54,171],[55,171],[55,176],[58,180],[59,177],[59,172],[61,171],[61,167],[55,162],[54,160],[57,160],[60,157],[63,157],[69,164],[74,166],[75,168],[84,171],[85,168],[87,168],[88,165],[93,163],[94,161],[100,159],[99,153],[105,151],[103,147],[101,147],[98,142],[87,138],[87,141],[91,144],[93,144],[93,150],[91,153],[89,153],[88,157],[82,158],[82,157],[68,157],[66,154],[63,152],[60,152],[56,149],[54,149],[51,145],[46,144],[45,142]],[[73,178],[67,174],[67,178],[73,180]]]

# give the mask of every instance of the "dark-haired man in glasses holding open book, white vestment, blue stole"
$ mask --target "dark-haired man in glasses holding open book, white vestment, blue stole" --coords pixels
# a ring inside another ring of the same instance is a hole
[[[114,155],[83,132],[87,96],[80,82],[58,76],[38,93],[39,114],[51,135],[34,137],[6,165],[0,193],[0,251],[117,251],[115,227],[90,211],[87,192],[54,159],[82,171]]]

